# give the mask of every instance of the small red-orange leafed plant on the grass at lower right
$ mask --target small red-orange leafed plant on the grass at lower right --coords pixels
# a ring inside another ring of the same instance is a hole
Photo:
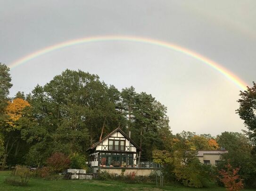
[[[242,179],[238,175],[239,168],[233,169],[229,161],[225,167],[227,170],[221,169],[219,171],[219,174],[221,175],[219,179],[224,184],[225,188],[228,191],[239,191],[243,189]]]

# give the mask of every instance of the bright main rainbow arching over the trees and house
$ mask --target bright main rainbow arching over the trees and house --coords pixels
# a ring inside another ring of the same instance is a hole
[[[216,63],[215,61],[211,61],[210,59],[208,59],[196,52],[193,52],[187,48],[184,48],[182,46],[178,46],[175,44],[171,44],[168,42],[164,42],[164,41],[160,41],[160,40],[156,40],[156,39],[132,37],[132,36],[99,36],[99,37],[73,39],[73,40],[65,41],[65,42],[55,44],[52,46],[48,46],[46,48],[43,48],[41,50],[38,50],[31,54],[28,54],[25,57],[22,57],[22,58],[18,59],[17,61],[14,61],[8,67],[10,69],[13,69],[13,68],[15,68],[27,61],[30,61],[38,56],[41,56],[43,54],[49,53],[54,50],[58,50],[60,48],[64,48],[67,46],[79,45],[82,43],[99,42],[99,41],[130,41],[130,42],[145,43],[145,44],[149,44],[149,45],[157,45],[157,46],[161,46],[164,48],[172,49],[177,52],[187,54],[199,61],[202,61],[206,65],[210,66],[211,68],[217,70],[218,72],[220,72],[221,74],[226,76],[228,79],[230,79],[233,83],[235,83],[242,90],[247,89],[247,84],[245,82],[243,82],[238,76],[235,76],[234,74],[231,73],[231,71],[225,69],[224,67],[222,67],[220,64]]]

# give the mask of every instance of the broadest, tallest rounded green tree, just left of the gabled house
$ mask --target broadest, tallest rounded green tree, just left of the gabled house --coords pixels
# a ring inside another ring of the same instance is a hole
[[[84,153],[99,141],[102,129],[103,134],[112,131],[122,118],[116,106],[118,90],[81,70],[67,69],[43,87],[36,86],[30,102],[35,122],[23,130],[32,149],[26,158],[38,146],[43,163],[53,152]]]

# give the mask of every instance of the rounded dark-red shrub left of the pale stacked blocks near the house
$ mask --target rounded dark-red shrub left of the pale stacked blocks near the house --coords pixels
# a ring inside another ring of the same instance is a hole
[[[63,153],[53,153],[51,157],[48,158],[47,164],[54,172],[58,173],[69,168],[70,160]]]

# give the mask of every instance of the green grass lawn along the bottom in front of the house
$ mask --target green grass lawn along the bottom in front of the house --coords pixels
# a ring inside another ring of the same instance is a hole
[[[179,185],[165,186],[157,188],[151,184],[128,184],[119,181],[99,181],[99,180],[43,180],[32,178],[29,186],[10,186],[4,183],[5,177],[9,176],[9,171],[0,171],[0,191],[225,191],[221,187],[212,188],[187,188]],[[252,190],[244,190],[252,191]]]

